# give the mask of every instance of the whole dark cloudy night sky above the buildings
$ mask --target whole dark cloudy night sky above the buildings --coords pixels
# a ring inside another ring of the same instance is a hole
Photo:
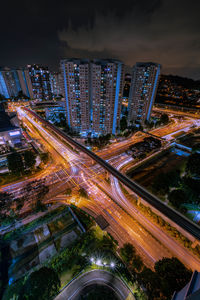
[[[198,0],[7,0],[0,11],[0,66],[118,58],[200,79]]]

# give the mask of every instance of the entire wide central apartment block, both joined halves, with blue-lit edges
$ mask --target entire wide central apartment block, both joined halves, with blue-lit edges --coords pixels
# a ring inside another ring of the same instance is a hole
[[[123,64],[116,60],[65,59],[61,69],[68,125],[82,136],[116,134]]]

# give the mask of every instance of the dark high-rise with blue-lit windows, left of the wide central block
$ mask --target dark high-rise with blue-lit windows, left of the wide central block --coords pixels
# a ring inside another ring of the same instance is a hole
[[[52,93],[48,67],[35,64],[27,67],[33,87],[33,98],[37,100],[51,100]]]

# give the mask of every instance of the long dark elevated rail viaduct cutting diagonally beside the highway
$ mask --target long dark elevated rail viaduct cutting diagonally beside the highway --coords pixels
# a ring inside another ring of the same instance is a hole
[[[39,122],[41,122],[46,127],[51,129],[53,131],[53,133],[57,134],[62,140],[70,143],[74,148],[87,154],[90,158],[92,158],[92,160],[94,160],[96,163],[100,164],[106,171],[108,171],[110,174],[112,174],[114,177],[116,177],[121,183],[123,183],[125,186],[127,186],[135,194],[137,194],[139,197],[144,199],[147,203],[149,203],[155,209],[160,211],[164,216],[166,216],[167,218],[172,220],[175,224],[177,224],[185,232],[187,232],[188,234],[193,236],[194,239],[197,239],[198,241],[200,241],[200,228],[198,225],[194,224],[192,221],[190,221],[189,219],[184,217],[182,214],[180,214],[173,208],[167,206],[165,203],[163,203],[161,200],[159,200],[156,196],[149,193],[142,186],[140,186],[136,182],[130,180],[127,176],[125,176],[124,174],[119,172],[117,169],[115,169],[113,166],[111,166],[104,159],[97,156],[95,153],[93,153],[92,151],[88,150],[86,147],[84,147],[80,143],[73,140],[73,138],[68,136],[62,130],[58,129],[56,126],[50,124],[48,121],[44,120],[42,117],[38,116],[32,110],[30,110],[28,108],[23,108],[23,109],[26,112],[30,113]]]

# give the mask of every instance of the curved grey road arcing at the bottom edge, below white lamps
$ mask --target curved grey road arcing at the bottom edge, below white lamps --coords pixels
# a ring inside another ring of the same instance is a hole
[[[55,300],[78,300],[81,292],[87,286],[104,285],[112,289],[117,297],[121,300],[134,300],[134,296],[127,288],[127,286],[118,277],[114,276],[108,271],[92,270],[80,275],[74,279],[56,298]]]

